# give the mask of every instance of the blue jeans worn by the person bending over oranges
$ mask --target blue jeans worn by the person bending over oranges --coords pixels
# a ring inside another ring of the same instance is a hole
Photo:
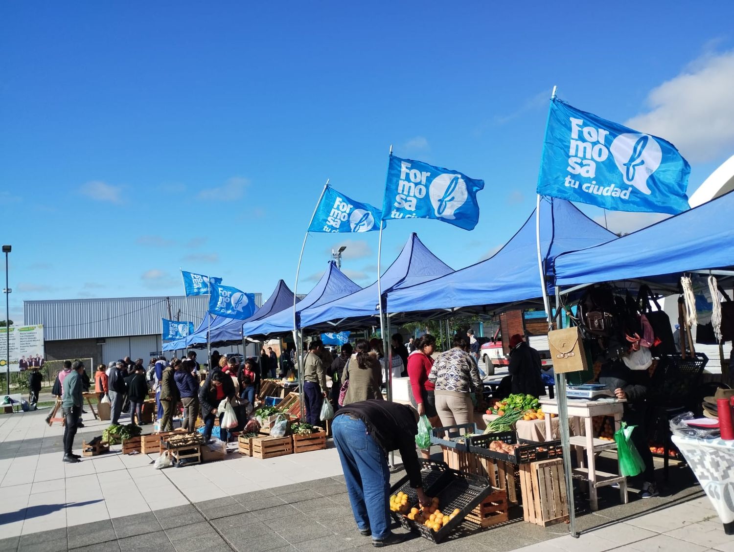
[[[389,537],[390,471],[385,452],[360,419],[336,416],[331,430],[357,527],[371,529],[372,540]]]

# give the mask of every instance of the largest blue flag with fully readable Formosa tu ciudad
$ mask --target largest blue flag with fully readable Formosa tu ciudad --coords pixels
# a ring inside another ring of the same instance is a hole
[[[675,215],[689,208],[690,172],[669,141],[551,100],[538,194],[614,211]]]

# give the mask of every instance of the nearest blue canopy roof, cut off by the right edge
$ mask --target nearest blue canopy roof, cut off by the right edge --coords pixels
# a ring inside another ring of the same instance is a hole
[[[601,246],[559,255],[556,285],[653,278],[734,267],[734,191]]]

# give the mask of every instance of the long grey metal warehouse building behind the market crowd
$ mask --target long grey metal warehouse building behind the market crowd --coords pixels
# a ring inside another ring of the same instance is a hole
[[[255,304],[262,302],[255,293]],[[161,318],[191,320],[198,327],[207,307],[206,295],[23,301],[23,320],[43,324],[47,360],[92,358],[106,364],[129,356],[148,364],[150,353],[161,350]],[[242,346],[217,350],[241,353]]]

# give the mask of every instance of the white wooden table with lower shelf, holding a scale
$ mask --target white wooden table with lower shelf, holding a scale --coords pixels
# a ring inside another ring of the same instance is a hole
[[[597,488],[605,485],[619,483],[619,495],[622,502],[627,504],[627,478],[619,474],[608,474],[596,469],[595,455],[603,450],[616,449],[614,441],[604,441],[594,438],[594,427],[592,418],[594,416],[614,416],[614,430],[618,430],[622,422],[624,409],[623,400],[568,400],[568,416],[575,416],[584,422],[584,435],[575,435],[569,439],[570,444],[576,449],[578,468],[573,470],[575,476],[580,476],[589,482],[589,506],[592,511],[599,508],[597,502]],[[541,399],[543,412],[558,413],[558,402],[556,399]],[[580,420],[580,421],[581,421]],[[546,435],[551,434],[551,419],[545,418]],[[584,449],[586,458],[584,458]],[[585,461],[584,461],[585,460]]]

